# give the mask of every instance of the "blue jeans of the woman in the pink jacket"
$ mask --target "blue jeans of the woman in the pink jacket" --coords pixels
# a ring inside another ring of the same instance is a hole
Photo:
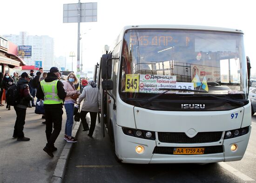
[[[65,134],[68,137],[72,135],[72,127],[74,124],[74,104],[64,104],[66,113],[67,113],[67,121],[65,126]]]

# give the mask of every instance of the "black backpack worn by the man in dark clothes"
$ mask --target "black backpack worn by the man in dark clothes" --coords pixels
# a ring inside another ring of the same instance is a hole
[[[17,105],[20,103],[20,91],[17,84],[11,85],[6,93],[6,103],[7,105]]]

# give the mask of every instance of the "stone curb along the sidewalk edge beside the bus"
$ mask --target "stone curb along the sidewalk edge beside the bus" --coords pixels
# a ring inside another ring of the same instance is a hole
[[[74,128],[72,130],[72,136],[77,137],[79,128],[80,128],[81,122],[76,122],[74,125]],[[73,143],[66,143],[64,146],[61,156],[57,162],[57,165],[54,170],[54,175],[52,177],[51,183],[62,183],[62,180],[64,178],[64,173],[66,169],[67,160],[71,151],[71,148],[73,147]]]

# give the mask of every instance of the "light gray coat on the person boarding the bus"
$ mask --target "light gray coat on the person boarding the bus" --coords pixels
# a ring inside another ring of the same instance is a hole
[[[101,108],[101,94],[98,87],[91,85],[84,87],[82,94],[78,98],[78,104],[84,99],[81,111],[98,112]]]

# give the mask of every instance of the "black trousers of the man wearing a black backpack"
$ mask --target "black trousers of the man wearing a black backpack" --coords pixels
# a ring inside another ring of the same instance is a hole
[[[17,117],[14,125],[13,136],[17,136],[18,138],[23,138],[24,137],[23,129],[25,124],[27,109],[22,109],[20,107],[14,106],[14,110],[16,112]]]

